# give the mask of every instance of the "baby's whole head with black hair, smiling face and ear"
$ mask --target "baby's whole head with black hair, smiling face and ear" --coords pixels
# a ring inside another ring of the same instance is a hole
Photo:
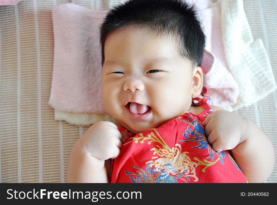
[[[205,35],[194,7],[179,0],[131,0],[100,26],[107,112],[134,132],[156,128],[201,93]]]

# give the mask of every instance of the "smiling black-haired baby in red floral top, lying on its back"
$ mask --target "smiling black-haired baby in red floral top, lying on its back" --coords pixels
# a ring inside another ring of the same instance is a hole
[[[200,67],[205,35],[193,6],[127,1],[108,12],[100,43],[103,102],[120,124],[97,122],[77,139],[68,182],[270,176],[274,150],[266,134],[250,119],[209,105]]]

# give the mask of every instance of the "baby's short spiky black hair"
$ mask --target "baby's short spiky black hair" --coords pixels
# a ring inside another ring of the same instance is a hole
[[[139,26],[161,37],[173,37],[179,55],[190,60],[192,67],[200,66],[205,34],[194,5],[184,0],[128,0],[111,8],[100,24],[102,67],[107,36],[132,26]]]

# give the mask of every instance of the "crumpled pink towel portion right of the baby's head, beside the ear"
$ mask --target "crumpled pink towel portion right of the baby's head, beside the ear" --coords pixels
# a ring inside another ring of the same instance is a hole
[[[228,107],[237,102],[240,95],[238,83],[229,72],[221,32],[220,8],[213,7],[212,1],[195,0],[203,8],[200,13],[202,29],[206,35],[206,51],[201,61],[204,85],[209,89],[211,105]]]

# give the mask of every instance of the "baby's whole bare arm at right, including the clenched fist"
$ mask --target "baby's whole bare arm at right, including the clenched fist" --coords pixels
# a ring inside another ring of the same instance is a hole
[[[231,150],[248,182],[263,182],[270,176],[275,160],[274,149],[257,124],[235,113],[218,110],[208,115],[203,125],[213,149]]]

